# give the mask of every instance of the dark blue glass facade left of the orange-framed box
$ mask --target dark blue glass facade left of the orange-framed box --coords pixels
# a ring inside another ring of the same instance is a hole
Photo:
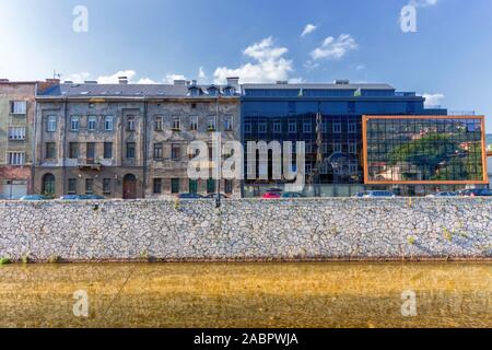
[[[445,109],[434,109],[432,113],[447,114]],[[424,98],[389,89],[323,90],[309,89],[308,85],[304,89],[245,88],[242,102],[243,141],[245,149],[248,141],[305,141],[308,183],[361,185],[364,184],[362,116],[426,114]],[[316,131],[317,115],[321,116],[320,138]],[[316,161],[318,143],[321,144],[323,164]],[[329,161],[333,154],[340,154],[343,159],[341,167],[333,166]],[[315,168],[318,173],[313,171]],[[312,175],[313,178],[309,178]],[[271,185],[277,183],[268,182]],[[265,185],[265,182],[245,183]]]

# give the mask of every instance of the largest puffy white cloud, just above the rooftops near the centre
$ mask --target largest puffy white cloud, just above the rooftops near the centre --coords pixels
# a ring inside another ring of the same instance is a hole
[[[216,84],[223,84],[227,77],[239,77],[243,83],[289,80],[293,63],[284,58],[288,51],[286,47],[276,46],[271,36],[267,37],[243,50],[243,55],[253,58],[255,62],[239,68],[219,67],[213,73],[214,81]]]

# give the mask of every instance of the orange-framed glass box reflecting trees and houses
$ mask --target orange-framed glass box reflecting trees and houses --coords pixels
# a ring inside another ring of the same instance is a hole
[[[487,185],[483,116],[363,116],[364,184]]]

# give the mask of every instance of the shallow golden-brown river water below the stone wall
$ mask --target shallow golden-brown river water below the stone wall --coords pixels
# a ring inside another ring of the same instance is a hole
[[[73,314],[79,290],[89,317]],[[402,316],[405,291],[415,316]],[[492,264],[10,265],[0,315],[0,327],[492,327]]]

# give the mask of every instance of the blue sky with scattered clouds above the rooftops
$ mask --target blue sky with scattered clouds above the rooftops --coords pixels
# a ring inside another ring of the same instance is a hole
[[[417,33],[400,28],[409,2]],[[86,33],[72,30],[77,5]],[[491,16],[490,0],[0,0],[0,78],[350,79],[492,117]]]

